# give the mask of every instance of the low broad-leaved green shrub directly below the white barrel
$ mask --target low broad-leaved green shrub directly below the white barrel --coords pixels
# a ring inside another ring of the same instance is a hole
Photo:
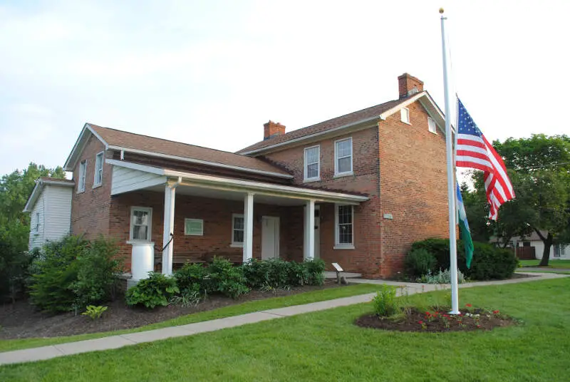
[[[167,306],[175,294],[180,293],[176,279],[157,272],[149,272],[148,279],[142,279],[126,294],[129,306],[144,305],[154,309],[156,306]]]

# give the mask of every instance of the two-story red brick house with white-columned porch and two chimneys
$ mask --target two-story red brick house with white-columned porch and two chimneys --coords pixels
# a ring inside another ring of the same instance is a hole
[[[71,232],[117,239],[133,279],[221,255],[338,262],[390,277],[416,240],[447,236],[444,118],[423,82],[399,98],[264,139],[237,153],[87,123]]]

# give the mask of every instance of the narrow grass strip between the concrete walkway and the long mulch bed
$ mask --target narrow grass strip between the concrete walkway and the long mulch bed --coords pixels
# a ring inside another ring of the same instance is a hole
[[[62,336],[51,338],[31,338],[31,339],[9,339],[0,340],[0,352],[18,349],[35,348],[39,346],[63,344],[66,342],[83,341],[86,339],[98,339],[100,337],[115,336],[117,334],[134,333],[137,331],[146,331],[150,329],[165,328],[167,326],[177,326],[192,324],[194,322],[207,321],[212,319],[222,319],[229,316],[237,316],[239,314],[251,313],[253,311],[261,311],[266,309],[282,308],[285,306],[309,304],[311,302],[326,301],[332,299],[340,299],[341,297],[356,296],[358,294],[367,294],[378,291],[380,285],[375,284],[356,284],[348,287],[321,289],[318,291],[308,291],[305,293],[293,294],[291,296],[275,297],[270,299],[247,301],[243,304],[226,306],[224,308],[214,309],[211,311],[202,311],[195,314],[180,316],[168,321],[157,322],[146,326],[140,326],[134,329],[124,329],[118,331],[105,331],[100,333],[79,334],[77,336]],[[0,379],[0,381],[2,381]]]

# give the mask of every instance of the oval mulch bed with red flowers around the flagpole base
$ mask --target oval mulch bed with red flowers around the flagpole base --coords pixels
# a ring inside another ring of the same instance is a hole
[[[441,333],[445,331],[482,331],[497,327],[510,326],[517,323],[516,320],[492,314],[483,309],[470,309],[462,311],[461,316],[447,314],[450,309],[441,309],[441,312],[411,309],[408,314],[399,314],[393,318],[380,318],[376,314],[366,314],[355,321],[355,324],[363,328],[373,328],[391,331],[425,331]],[[467,315],[471,314],[471,316]],[[474,316],[474,315],[479,315]],[[435,315],[435,316],[434,316]],[[431,318],[430,318],[431,316]],[[446,324],[447,323],[447,324]]]

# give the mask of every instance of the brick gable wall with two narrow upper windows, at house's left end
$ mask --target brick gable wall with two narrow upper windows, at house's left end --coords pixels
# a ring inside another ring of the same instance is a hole
[[[103,182],[93,188],[95,175],[95,155],[104,150],[103,143],[93,135],[73,168],[73,180],[76,187],[71,198],[71,234],[85,234],[87,239],[93,239],[100,234],[109,233],[109,205],[111,190],[111,166],[103,165]],[[77,193],[79,185],[79,163],[87,160],[85,192]]]

